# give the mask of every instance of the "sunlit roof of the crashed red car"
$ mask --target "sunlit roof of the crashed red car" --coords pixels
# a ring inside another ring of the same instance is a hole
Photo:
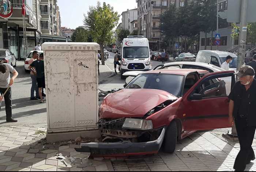
[[[143,72],[143,74],[174,74],[174,75],[187,75],[192,72],[198,72],[198,73],[208,73],[206,70],[199,70],[199,69],[161,69],[161,70],[151,70],[147,72]]]

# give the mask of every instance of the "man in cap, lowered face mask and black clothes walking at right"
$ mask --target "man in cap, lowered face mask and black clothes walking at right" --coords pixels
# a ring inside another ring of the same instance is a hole
[[[256,129],[256,80],[251,66],[241,67],[240,77],[229,95],[229,123],[236,123],[240,152],[236,157],[234,169],[244,171],[246,164],[255,160],[252,141]]]

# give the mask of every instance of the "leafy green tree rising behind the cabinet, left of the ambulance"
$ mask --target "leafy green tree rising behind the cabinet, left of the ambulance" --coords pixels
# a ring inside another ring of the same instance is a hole
[[[89,28],[94,42],[101,47],[101,56],[104,56],[103,46],[112,43],[114,39],[114,27],[117,26],[120,15],[114,12],[114,8],[105,2],[101,7],[98,1],[97,6],[90,6],[87,15],[84,14],[84,26]],[[102,58],[102,64],[105,65],[105,59]]]

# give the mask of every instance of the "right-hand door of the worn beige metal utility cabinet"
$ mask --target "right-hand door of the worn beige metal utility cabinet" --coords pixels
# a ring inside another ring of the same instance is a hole
[[[98,60],[95,51],[72,51],[75,126],[95,126],[98,115]]]

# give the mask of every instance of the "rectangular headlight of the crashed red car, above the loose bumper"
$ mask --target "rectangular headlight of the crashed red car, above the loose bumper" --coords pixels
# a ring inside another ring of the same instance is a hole
[[[122,128],[136,130],[152,130],[153,124],[151,120],[126,118]]]

